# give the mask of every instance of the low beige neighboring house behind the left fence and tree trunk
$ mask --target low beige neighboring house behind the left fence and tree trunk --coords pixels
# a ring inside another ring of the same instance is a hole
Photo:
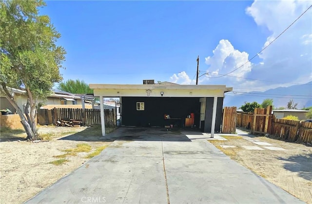
[[[20,88],[11,88],[10,89],[14,100],[17,102],[18,106],[21,110],[25,112],[27,95],[26,90]],[[64,108],[82,108],[83,103],[85,108],[92,108],[93,102],[95,98],[90,95],[81,95],[81,94],[73,94],[66,91],[61,91],[58,89],[53,90],[54,93],[47,97],[46,99],[39,99],[39,102],[44,103],[45,105],[41,108],[44,109],[53,109],[54,107],[64,107]],[[15,108],[11,105],[11,103],[5,98],[0,97],[0,109],[10,109],[13,113],[16,112]]]

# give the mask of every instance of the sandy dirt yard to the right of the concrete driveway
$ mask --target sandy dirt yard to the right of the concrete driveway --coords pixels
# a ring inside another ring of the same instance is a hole
[[[243,137],[225,136],[225,138],[228,141],[209,140],[209,142],[246,168],[302,201],[312,204],[312,147],[265,136],[252,138],[285,149],[273,151]],[[222,148],[220,145],[233,145],[235,148]],[[258,146],[264,150],[247,150],[242,146]]]

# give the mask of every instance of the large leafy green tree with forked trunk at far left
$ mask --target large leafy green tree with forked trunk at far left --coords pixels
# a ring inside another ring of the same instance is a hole
[[[0,1],[0,90],[20,116],[27,140],[40,139],[37,131],[39,99],[52,94],[62,80],[59,68],[66,51],[56,44],[60,37],[48,16],[39,15],[42,0]],[[10,88],[25,88],[23,114]]]

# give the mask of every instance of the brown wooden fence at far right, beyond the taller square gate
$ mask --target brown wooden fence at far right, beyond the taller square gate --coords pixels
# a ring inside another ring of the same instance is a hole
[[[271,135],[279,136],[283,140],[312,144],[312,122],[273,119]]]

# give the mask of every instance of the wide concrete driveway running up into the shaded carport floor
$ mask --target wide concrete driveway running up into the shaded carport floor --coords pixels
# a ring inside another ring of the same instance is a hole
[[[100,155],[26,203],[303,203],[231,160],[208,134],[119,128]]]

